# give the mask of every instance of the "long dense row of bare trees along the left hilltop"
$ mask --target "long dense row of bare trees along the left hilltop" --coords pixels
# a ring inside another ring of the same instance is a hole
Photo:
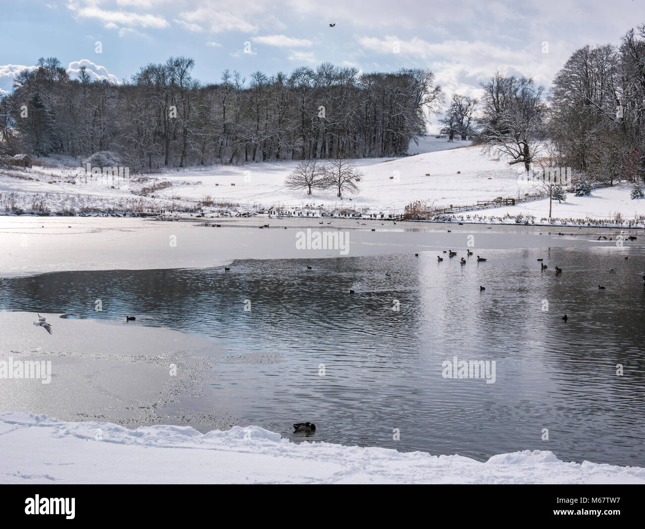
[[[71,79],[55,57],[0,99],[5,150],[119,155],[136,170],[250,161],[400,155],[441,101],[429,70],[362,74],[323,63],[290,75],[224,71],[217,84],[170,57],[120,85]]]

